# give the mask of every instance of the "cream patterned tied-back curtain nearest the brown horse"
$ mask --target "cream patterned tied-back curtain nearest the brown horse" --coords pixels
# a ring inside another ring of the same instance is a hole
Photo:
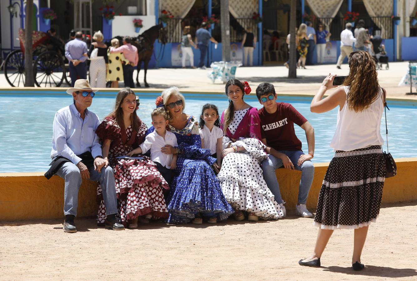
[[[162,10],[167,10],[171,12],[174,18],[182,19],[191,10],[191,8],[194,5],[194,2],[196,2],[196,0],[161,0],[161,10],[159,11],[159,15],[161,15]],[[168,31],[168,42],[178,41],[178,38],[181,38],[181,20],[168,21],[166,29]],[[177,39],[175,40],[175,38]]]

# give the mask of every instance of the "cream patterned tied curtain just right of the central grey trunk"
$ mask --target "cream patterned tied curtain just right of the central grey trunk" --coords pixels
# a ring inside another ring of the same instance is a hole
[[[233,15],[234,18],[252,18],[254,16],[254,12],[258,13],[258,0],[229,0],[229,12]],[[262,15],[261,15],[262,16]],[[252,33],[254,33],[255,38],[257,38],[257,30],[256,24],[253,20],[237,20],[237,22],[243,28],[252,28]],[[235,30],[231,29],[231,37],[236,38]]]

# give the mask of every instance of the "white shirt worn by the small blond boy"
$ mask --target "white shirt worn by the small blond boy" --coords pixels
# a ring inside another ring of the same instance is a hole
[[[166,168],[170,168],[170,164],[172,161],[172,154],[165,154],[161,152],[161,148],[166,145],[170,146],[178,146],[177,138],[174,133],[166,131],[165,133],[165,140],[163,137],[156,133],[154,130],[152,133],[146,136],[145,141],[140,145],[142,149],[142,153],[146,153],[149,149],[151,149],[151,159],[153,162],[158,162],[162,166]]]

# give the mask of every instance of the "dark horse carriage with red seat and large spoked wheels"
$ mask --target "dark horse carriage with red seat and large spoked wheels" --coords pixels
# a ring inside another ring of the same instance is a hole
[[[14,50],[5,59],[4,75],[12,87],[25,85],[25,30],[19,30],[20,50]],[[33,31],[33,75],[38,87],[59,87],[68,83],[65,69],[65,44],[47,33]],[[68,83],[69,84],[69,83]]]

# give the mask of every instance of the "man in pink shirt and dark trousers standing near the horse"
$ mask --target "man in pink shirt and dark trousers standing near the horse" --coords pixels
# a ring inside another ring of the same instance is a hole
[[[138,65],[138,48],[131,45],[131,38],[125,36],[123,38],[123,45],[119,48],[111,48],[110,53],[123,53],[126,60],[129,60],[129,63],[123,65],[123,80],[125,80],[125,87],[135,88],[135,83],[133,82],[133,70],[135,66]]]

